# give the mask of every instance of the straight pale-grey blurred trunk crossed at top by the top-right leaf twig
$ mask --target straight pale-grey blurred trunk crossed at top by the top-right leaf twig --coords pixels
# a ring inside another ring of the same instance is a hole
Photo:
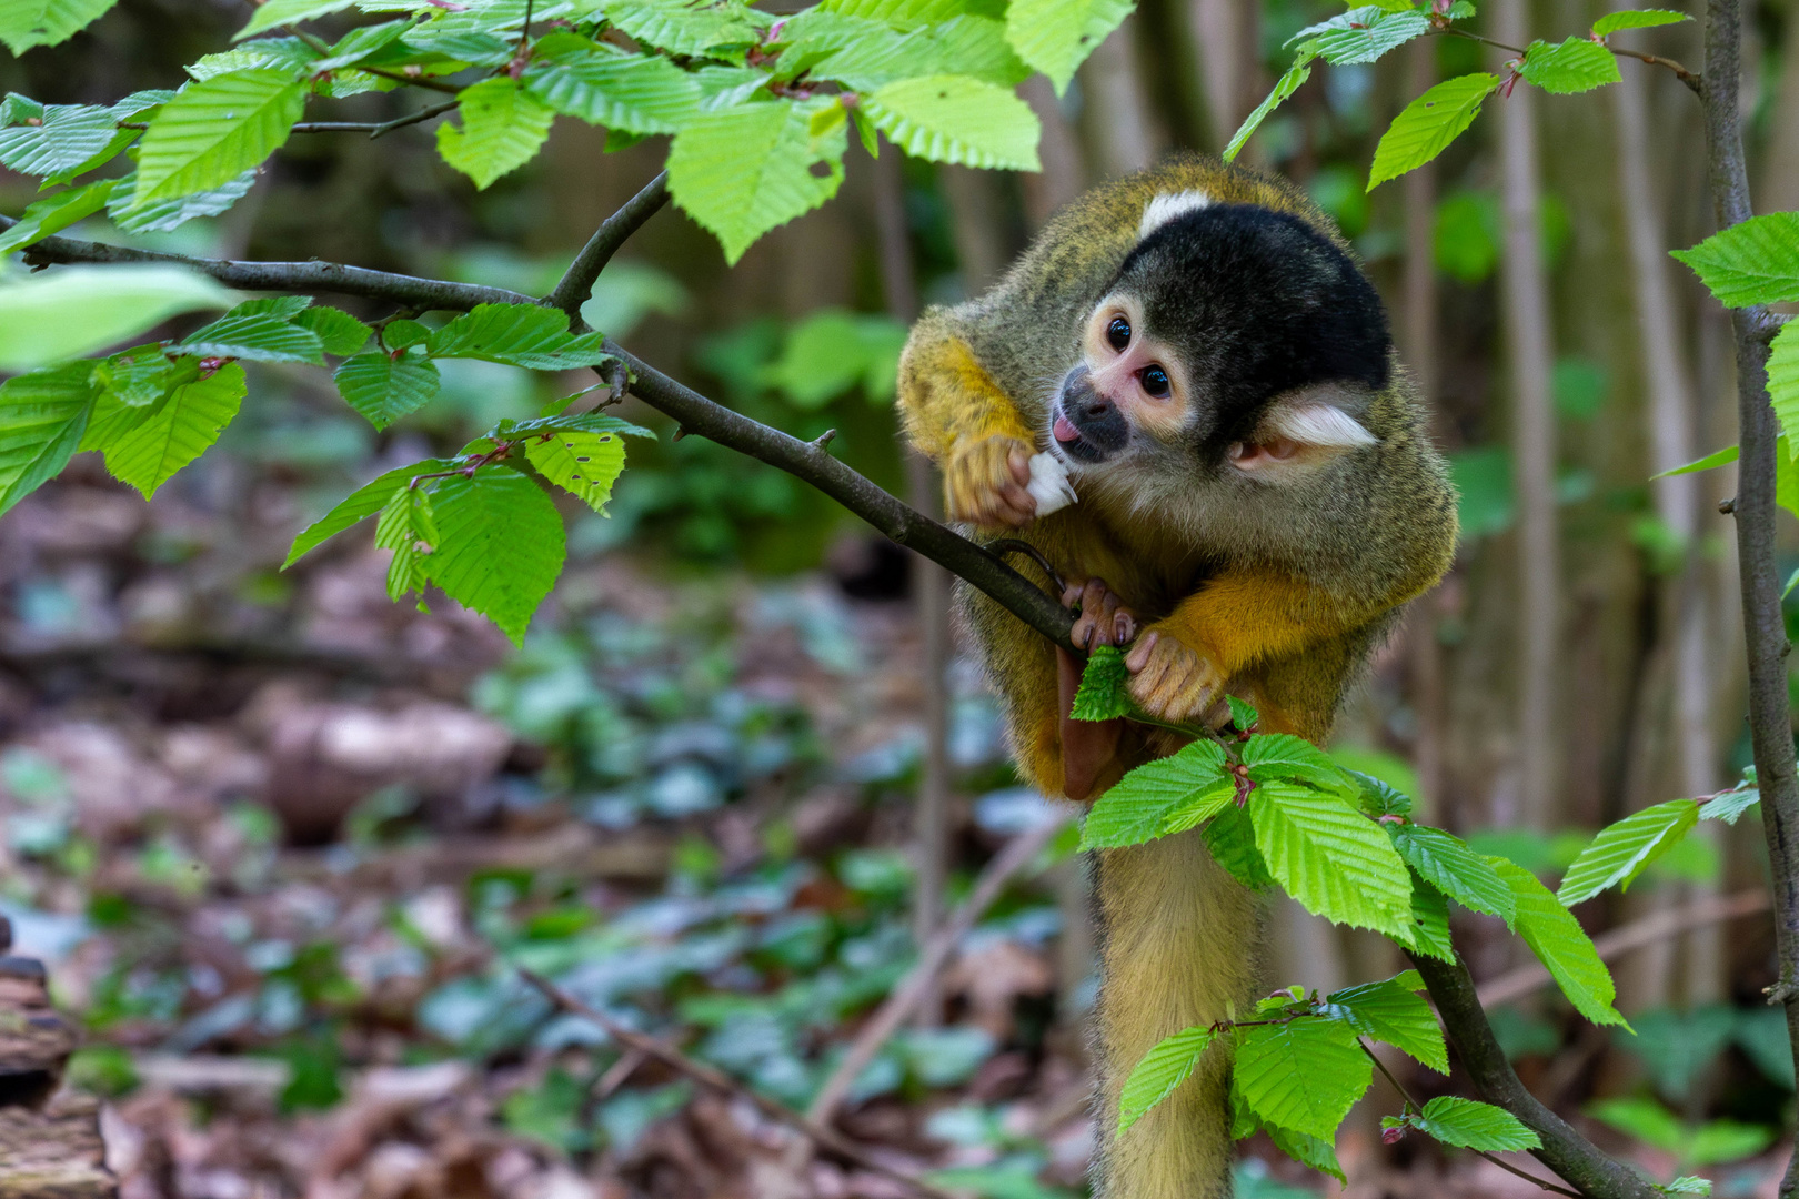
[[[1495,36],[1524,41],[1524,0],[1493,5]],[[1556,543],[1556,426],[1549,403],[1549,282],[1542,252],[1536,162],[1536,90],[1517,88],[1500,117],[1506,255],[1500,282],[1513,394],[1513,476],[1518,494],[1518,742],[1520,816],[1547,829],[1556,793],[1556,656],[1560,554]]]

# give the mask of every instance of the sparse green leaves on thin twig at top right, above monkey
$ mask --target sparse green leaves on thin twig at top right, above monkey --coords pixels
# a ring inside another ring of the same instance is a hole
[[[1311,77],[1311,65],[1317,59],[1333,67],[1373,63],[1414,38],[1454,32],[1455,22],[1473,14],[1475,5],[1470,0],[1376,0],[1301,29],[1286,41],[1293,47],[1292,67],[1238,128],[1225,146],[1225,160],[1236,158],[1268,113]],[[1522,81],[1554,95],[1571,95],[1617,83],[1617,58],[1605,41],[1610,34],[1686,20],[1691,18],[1669,9],[1608,13],[1594,22],[1585,38],[1567,38],[1560,43],[1538,40],[1524,47],[1518,58],[1506,63],[1504,77],[1482,70],[1437,83],[1407,104],[1382,135],[1380,146],[1374,147],[1374,164],[1369,167],[1367,191],[1441,155],[1473,124],[1481,106],[1495,92],[1511,95],[1511,88]]]

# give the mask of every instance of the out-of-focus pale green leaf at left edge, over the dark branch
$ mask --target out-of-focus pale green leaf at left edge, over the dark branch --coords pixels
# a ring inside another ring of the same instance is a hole
[[[230,307],[232,293],[178,266],[65,266],[0,282],[0,370],[31,370],[139,336],[169,316]]]

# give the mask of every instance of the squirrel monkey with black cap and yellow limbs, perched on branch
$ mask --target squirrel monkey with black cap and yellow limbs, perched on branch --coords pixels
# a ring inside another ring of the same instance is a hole
[[[1349,678],[1455,550],[1455,496],[1373,284],[1304,192],[1213,158],[1081,196],[993,291],[928,311],[900,403],[952,520],[1036,546],[1081,608],[1074,642],[1130,644],[1132,696],[1164,721],[1220,723],[1231,692],[1265,730],[1324,741]],[[1043,516],[1040,451],[1078,496]],[[1085,800],[1182,744],[1070,721],[1072,656],[988,597],[962,600],[1043,793]],[[1112,1129],[1157,1041],[1254,999],[1256,899],[1198,830],[1094,868],[1099,1194],[1229,1195],[1223,1046]]]

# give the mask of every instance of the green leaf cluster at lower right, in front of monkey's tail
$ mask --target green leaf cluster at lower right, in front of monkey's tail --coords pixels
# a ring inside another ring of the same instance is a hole
[[[1704,818],[1736,822],[1759,796],[1754,778],[1705,800],[1669,800],[1603,829],[1572,861],[1560,892],[1524,866],[1481,854],[1443,829],[1416,823],[1392,786],[1344,769],[1288,733],[1261,733],[1258,714],[1231,699],[1231,733],[1198,737],[1139,766],[1090,809],[1081,848],[1115,850],[1198,830],[1243,886],[1279,884],[1308,911],[1385,933],[1414,955],[1454,960],[1450,901],[1518,933],[1567,999],[1598,1025],[1628,1030],[1612,1007],[1612,974],[1574,919],[1574,904],[1628,888]],[[1121,651],[1094,651],[1074,719],[1133,715]],[[1443,1035],[1407,973],[1328,996],[1301,989],[1263,999],[1243,1019],[1193,1026],[1150,1050],[1124,1084],[1119,1132],[1166,1100],[1207,1052],[1234,1061],[1236,1131],[1268,1131],[1295,1159],[1338,1174],[1331,1140],[1367,1089],[1360,1037],[1385,1041],[1446,1071]],[[1214,1048],[1216,1046],[1216,1048]],[[1437,1098],[1389,1122],[1446,1145],[1527,1149],[1536,1136],[1511,1115]]]

